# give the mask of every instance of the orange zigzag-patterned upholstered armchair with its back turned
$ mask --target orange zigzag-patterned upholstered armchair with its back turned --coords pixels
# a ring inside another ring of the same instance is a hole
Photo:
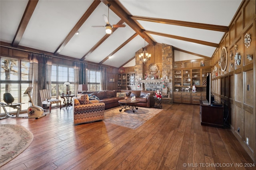
[[[104,119],[105,104],[98,100],[89,100],[87,94],[78,94],[73,98],[74,124],[90,123]]]

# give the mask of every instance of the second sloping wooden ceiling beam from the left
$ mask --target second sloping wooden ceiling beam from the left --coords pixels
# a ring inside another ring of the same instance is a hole
[[[76,25],[72,28],[72,30],[68,33],[66,38],[62,41],[62,43],[59,45],[59,47],[54,52],[54,55],[58,55],[62,49],[67,45],[67,43],[70,41],[70,39],[75,35],[75,33],[80,29],[80,27],[84,24],[84,22],[89,18],[89,16],[92,14],[92,12],[97,8],[97,6],[100,4],[100,1],[94,0],[88,10],[84,13],[84,15],[80,18],[80,20],[76,23]]]

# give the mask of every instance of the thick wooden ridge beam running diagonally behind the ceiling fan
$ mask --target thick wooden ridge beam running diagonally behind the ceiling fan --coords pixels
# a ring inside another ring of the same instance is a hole
[[[146,39],[146,41],[150,45],[155,45],[156,42],[154,42],[151,37],[149,37],[146,33],[143,33],[141,27],[132,20],[129,15],[125,12],[123,8],[121,8],[116,1],[114,0],[101,0],[104,4],[110,4],[110,10],[112,10],[119,18],[121,18],[126,24],[128,24],[138,35],[140,35],[143,39]]]

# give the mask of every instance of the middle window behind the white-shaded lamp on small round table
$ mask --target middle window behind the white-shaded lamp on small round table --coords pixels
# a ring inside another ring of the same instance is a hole
[[[74,94],[74,68],[52,65],[52,98],[66,94],[67,87],[64,82],[70,82],[68,91]]]

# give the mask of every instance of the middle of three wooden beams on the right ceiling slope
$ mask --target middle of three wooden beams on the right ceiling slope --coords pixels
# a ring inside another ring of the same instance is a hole
[[[154,31],[148,31],[148,30],[144,30],[145,33],[149,33],[149,34],[154,34],[154,35],[160,35],[163,37],[168,37],[168,38],[173,38],[173,39],[179,39],[182,41],[188,41],[188,42],[192,42],[192,43],[197,43],[197,44],[202,44],[202,45],[208,45],[211,47],[219,47],[219,44],[216,43],[210,43],[207,41],[201,41],[201,40],[197,40],[197,39],[191,39],[191,38],[186,38],[186,37],[180,37],[180,36],[176,36],[176,35],[170,35],[170,34],[165,34],[165,33],[158,33],[158,32],[154,32]]]

